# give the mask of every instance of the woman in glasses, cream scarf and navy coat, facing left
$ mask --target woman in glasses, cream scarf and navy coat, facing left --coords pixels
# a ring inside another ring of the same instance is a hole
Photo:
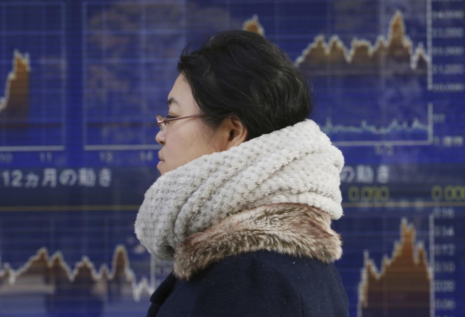
[[[147,316],[348,316],[334,265],[341,152],[305,79],[264,37],[220,32],[178,63],[158,116],[161,176],[136,234],[174,260]]]

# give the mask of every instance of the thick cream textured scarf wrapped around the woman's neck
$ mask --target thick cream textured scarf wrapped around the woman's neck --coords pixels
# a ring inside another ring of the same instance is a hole
[[[229,215],[272,203],[303,203],[342,216],[344,159],[312,120],[204,155],[158,177],[135,223],[148,251],[172,260],[192,234]]]

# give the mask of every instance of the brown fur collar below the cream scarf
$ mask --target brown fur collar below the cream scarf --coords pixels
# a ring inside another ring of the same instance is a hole
[[[194,273],[232,255],[267,250],[331,263],[341,258],[341,237],[330,216],[305,204],[271,204],[229,216],[184,241],[174,254],[174,275]]]

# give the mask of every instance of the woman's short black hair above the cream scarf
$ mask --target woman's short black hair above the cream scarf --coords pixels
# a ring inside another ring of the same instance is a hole
[[[229,116],[248,130],[248,139],[305,120],[311,111],[308,83],[277,45],[254,32],[224,31],[179,59],[178,71],[202,117],[218,127]]]

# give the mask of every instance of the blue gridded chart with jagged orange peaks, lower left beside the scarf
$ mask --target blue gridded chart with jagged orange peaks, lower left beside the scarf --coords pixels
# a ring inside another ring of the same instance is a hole
[[[9,237],[8,247],[0,246],[3,311],[24,312],[24,307],[15,305],[18,294],[21,301],[33,302],[40,316],[63,309],[82,316],[146,310],[150,295],[172,264],[151,262],[136,239],[137,208],[74,207],[2,213],[0,231]],[[15,227],[18,219],[22,225]],[[25,236],[34,238],[25,244]]]

